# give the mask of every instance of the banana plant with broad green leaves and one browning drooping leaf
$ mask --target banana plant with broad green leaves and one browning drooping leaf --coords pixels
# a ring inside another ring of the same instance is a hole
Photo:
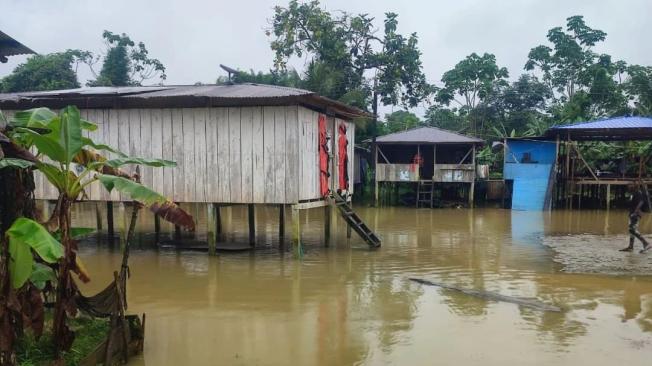
[[[26,149],[36,150],[39,159],[33,162],[34,168],[59,192],[57,204],[47,224],[48,230],[60,232],[63,246],[63,255],[58,266],[53,322],[53,340],[57,356],[61,351],[68,350],[74,339],[74,333],[66,324],[67,316],[74,315],[77,309],[77,288],[70,272],[84,273],[72,240],[71,206],[84,196],[89,185],[101,182],[109,191],[115,189],[129,195],[134,201],[175,225],[190,230],[195,228],[192,217],[174,202],[138,183],[138,177],[120,169],[128,164],[174,167],[174,162],[129,157],[83,136],[83,130],[95,129],[97,126],[83,120],[74,106],[65,107],[58,114],[47,108],[19,112],[8,124],[9,137]],[[106,158],[98,151],[111,152],[117,157]],[[82,280],[84,277],[80,276]]]

